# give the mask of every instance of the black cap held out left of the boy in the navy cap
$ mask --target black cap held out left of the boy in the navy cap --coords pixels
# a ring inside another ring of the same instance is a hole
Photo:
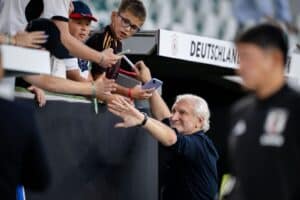
[[[47,42],[42,46],[57,58],[71,58],[69,51],[60,40],[60,31],[50,19],[39,18],[32,20],[26,27],[26,31],[44,31],[48,35]]]

